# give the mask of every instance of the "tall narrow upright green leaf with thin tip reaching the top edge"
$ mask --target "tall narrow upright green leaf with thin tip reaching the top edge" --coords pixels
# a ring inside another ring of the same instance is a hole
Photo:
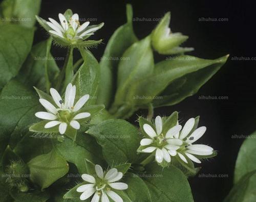
[[[126,5],[127,23],[119,27],[111,36],[100,61],[100,82],[97,103],[109,108],[116,90],[116,71],[124,51],[129,48],[137,37],[133,31],[133,9]]]

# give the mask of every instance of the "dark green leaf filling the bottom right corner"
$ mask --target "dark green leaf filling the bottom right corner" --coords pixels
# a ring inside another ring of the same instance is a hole
[[[248,161],[247,161],[248,162]],[[231,189],[224,202],[254,202],[256,201],[256,170],[243,175]]]

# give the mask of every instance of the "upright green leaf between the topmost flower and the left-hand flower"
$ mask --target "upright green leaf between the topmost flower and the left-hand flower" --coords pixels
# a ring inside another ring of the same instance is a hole
[[[99,64],[89,50],[80,49],[80,53],[84,62],[75,74],[72,83],[73,85],[79,86],[79,91],[77,91],[77,98],[89,94],[90,99],[87,101],[86,105],[92,105],[96,103],[97,98],[99,84]]]

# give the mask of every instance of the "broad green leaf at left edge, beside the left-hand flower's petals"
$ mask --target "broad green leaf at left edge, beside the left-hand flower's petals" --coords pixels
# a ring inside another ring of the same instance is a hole
[[[42,107],[32,89],[17,80],[11,80],[0,96],[0,154],[8,142],[12,148],[28,132],[29,126],[39,121],[35,117]]]

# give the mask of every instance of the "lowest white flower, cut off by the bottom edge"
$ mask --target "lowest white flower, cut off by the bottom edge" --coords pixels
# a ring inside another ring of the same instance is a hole
[[[86,200],[91,197],[91,202],[109,202],[109,197],[115,202],[123,202],[123,199],[112,189],[124,190],[128,188],[125,183],[117,182],[123,177],[122,172],[118,172],[116,168],[110,169],[108,172],[103,172],[100,165],[95,165],[96,179],[89,174],[82,174],[82,179],[91,184],[81,185],[76,189],[77,192],[83,192],[80,195],[80,200]]]

